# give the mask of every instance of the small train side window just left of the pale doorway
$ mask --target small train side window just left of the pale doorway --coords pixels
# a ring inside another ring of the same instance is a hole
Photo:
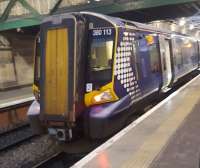
[[[151,72],[153,73],[159,72],[160,70],[159,51],[155,43],[149,46],[149,54],[150,54]]]

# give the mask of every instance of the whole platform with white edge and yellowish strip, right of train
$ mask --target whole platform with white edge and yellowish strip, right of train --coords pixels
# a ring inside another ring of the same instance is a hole
[[[199,168],[200,76],[89,153],[73,168]]]

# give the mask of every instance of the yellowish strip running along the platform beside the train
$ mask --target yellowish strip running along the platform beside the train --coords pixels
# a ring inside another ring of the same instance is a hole
[[[150,166],[154,158],[166,146],[170,137],[193,111],[195,105],[199,103],[199,92],[195,90],[192,95],[189,93],[183,99],[184,104],[177,107],[176,111],[144,141],[138,151],[128,158],[122,166],[123,168],[147,168]]]

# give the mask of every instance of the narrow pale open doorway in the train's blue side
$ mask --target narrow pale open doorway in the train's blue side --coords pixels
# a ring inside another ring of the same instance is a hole
[[[170,56],[170,40],[164,36],[159,36],[160,57],[162,64],[162,91],[165,92],[169,89],[172,81],[172,67]]]

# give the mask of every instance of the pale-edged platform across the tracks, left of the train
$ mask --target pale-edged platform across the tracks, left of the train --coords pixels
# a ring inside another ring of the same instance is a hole
[[[0,92],[0,109],[34,100],[32,88],[23,87]]]

